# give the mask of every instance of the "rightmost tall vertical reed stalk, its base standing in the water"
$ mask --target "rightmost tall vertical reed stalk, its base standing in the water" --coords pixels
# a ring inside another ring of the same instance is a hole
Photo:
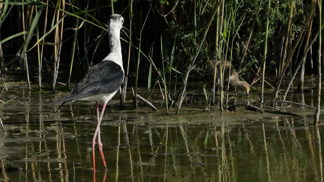
[[[318,99],[317,107],[314,115],[314,124],[319,123],[320,101],[321,101],[321,44],[322,44],[322,0],[318,1]]]

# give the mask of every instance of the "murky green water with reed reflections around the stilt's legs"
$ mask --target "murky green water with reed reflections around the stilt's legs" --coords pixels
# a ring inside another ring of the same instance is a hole
[[[109,102],[100,127],[108,170],[96,146],[94,176],[88,150],[97,122],[94,103],[69,103],[55,112],[57,106],[45,104],[61,94],[11,90],[1,96],[6,101],[19,95],[1,107],[7,131],[0,131],[1,181],[323,180],[323,125],[311,124],[314,110],[309,108],[283,109],[308,117],[240,108],[207,114],[202,113],[203,94],[195,94],[191,108],[182,108],[179,115],[173,114],[174,108],[166,116],[163,106],[158,112],[148,107],[119,110],[117,96]],[[231,103],[256,102],[259,97],[234,96]],[[316,97],[316,92],[294,93],[288,100],[302,103],[304,98],[305,104],[315,105]],[[156,105],[158,98],[162,99],[156,93]],[[270,94],[265,97],[270,99]]]

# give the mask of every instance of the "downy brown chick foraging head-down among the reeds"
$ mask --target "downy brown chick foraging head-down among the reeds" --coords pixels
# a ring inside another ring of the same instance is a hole
[[[212,75],[214,75],[214,69],[215,69],[214,63],[215,63],[214,59],[211,60],[210,64],[211,64],[211,69],[212,69]],[[217,66],[216,67],[216,78],[219,79],[220,78],[220,69],[219,69],[220,62],[219,61],[217,61],[216,66]],[[222,68],[224,69],[224,63],[222,65]],[[226,62],[225,73],[224,73],[224,82],[228,82],[228,71],[229,71],[229,63]],[[250,85],[246,81],[239,80],[237,71],[233,65],[231,65],[231,76],[229,77],[229,85],[237,88],[243,94],[245,94],[247,96],[249,95]]]

